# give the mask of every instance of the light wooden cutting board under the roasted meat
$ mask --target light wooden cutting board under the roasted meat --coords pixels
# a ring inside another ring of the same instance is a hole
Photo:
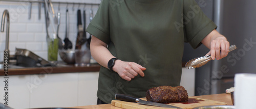
[[[146,98],[141,98],[142,100],[146,101]],[[138,109],[144,109],[144,108],[166,108],[166,107],[158,107],[158,106],[150,106],[150,105],[144,105],[139,104],[135,102],[126,102],[126,101],[120,101],[120,100],[112,100],[112,105],[121,107],[121,108],[138,108]],[[175,103],[169,103],[169,105],[178,106],[181,108],[194,108],[198,106],[206,106],[206,105],[227,105],[225,102],[219,102],[219,101],[213,101],[213,100],[207,100],[207,99],[201,99],[196,97],[188,97],[188,101],[185,102],[175,102]]]

